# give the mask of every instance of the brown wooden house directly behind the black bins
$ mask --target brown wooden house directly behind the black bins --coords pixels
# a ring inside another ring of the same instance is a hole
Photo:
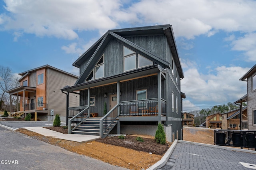
[[[247,121],[247,107],[243,109],[243,121]],[[234,109],[226,113],[222,113],[222,129],[239,130],[240,129],[240,109]],[[244,127],[243,129],[247,129]]]

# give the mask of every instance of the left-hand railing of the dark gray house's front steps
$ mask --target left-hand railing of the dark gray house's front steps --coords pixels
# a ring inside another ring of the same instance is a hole
[[[88,118],[88,109],[89,107],[86,107],[80,113],[68,120],[68,134],[71,134],[72,130],[74,130],[81,123],[83,123],[86,118]]]

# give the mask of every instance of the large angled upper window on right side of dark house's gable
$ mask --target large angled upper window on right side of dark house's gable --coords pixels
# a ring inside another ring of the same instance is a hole
[[[124,71],[152,65],[153,61],[124,46]]]

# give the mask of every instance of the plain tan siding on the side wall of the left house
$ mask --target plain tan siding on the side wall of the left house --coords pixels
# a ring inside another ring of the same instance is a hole
[[[66,95],[61,92],[66,85],[72,86],[76,78],[53,69],[47,69],[46,73],[46,96],[48,103],[48,113],[54,109],[54,115],[66,116]],[[70,93],[69,107],[79,106],[79,95]]]

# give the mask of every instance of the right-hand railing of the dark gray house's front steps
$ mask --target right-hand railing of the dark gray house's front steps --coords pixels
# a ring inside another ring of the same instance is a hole
[[[117,124],[119,117],[119,104],[115,105],[104,117],[100,119],[100,137],[104,138]]]

